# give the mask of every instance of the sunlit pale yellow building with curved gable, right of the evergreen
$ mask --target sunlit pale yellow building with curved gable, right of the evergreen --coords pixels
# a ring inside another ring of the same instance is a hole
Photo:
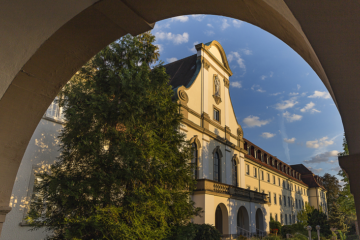
[[[321,181],[309,185],[301,178],[305,170],[314,176],[306,167],[293,168],[243,138],[229,93],[232,72],[221,45],[211,41],[195,48],[197,54],[165,65],[184,115],[181,130],[196,149],[198,183],[192,198],[204,215],[193,221],[213,224],[230,239],[269,232],[270,216],[295,223],[305,202],[326,209]]]

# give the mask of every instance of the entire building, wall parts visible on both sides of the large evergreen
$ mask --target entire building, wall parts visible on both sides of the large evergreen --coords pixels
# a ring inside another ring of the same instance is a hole
[[[306,202],[327,211],[322,180],[302,164],[288,165],[243,138],[229,92],[232,75],[217,41],[195,46],[197,54],[165,65],[184,119],[180,128],[194,147],[197,189],[191,196],[204,210],[195,223],[213,224],[227,239],[269,232],[270,216],[297,221]],[[42,239],[24,222],[36,200],[36,174],[59,156],[61,112],[54,102],[37,126],[23,157],[0,240]]]

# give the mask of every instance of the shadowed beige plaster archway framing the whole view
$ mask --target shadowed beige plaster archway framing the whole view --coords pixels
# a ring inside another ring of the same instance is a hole
[[[179,15],[236,18],[292,47],[329,90],[342,117],[350,153],[360,153],[360,5],[345,1],[340,5],[290,0],[1,3],[0,229],[10,210],[12,186],[31,135],[63,85],[110,42],[126,33],[150,30],[156,21]],[[348,160],[359,162],[360,156]]]

